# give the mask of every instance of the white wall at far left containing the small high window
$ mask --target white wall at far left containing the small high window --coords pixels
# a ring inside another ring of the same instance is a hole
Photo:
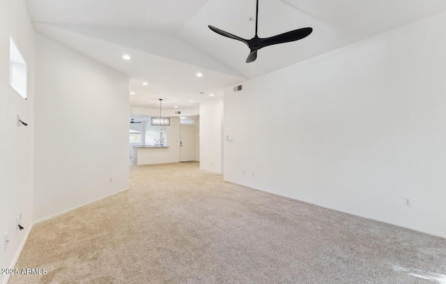
[[[13,36],[28,65],[28,100],[9,84],[9,47]],[[33,221],[33,70],[34,31],[24,1],[0,1],[0,268],[17,260]],[[17,127],[20,114],[27,127]],[[25,230],[17,230],[15,218],[22,213]],[[3,236],[9,243],[3,251]],[[0,283],[7,281],[0,275]]]

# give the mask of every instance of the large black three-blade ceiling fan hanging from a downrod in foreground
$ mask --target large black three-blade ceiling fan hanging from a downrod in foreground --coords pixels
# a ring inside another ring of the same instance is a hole
[[[259,38],[257,36],[257,24],[259,24],[259,0],[257,0],[257,6],[256,6],[256,35],[254,38],[251,38],[250,40],[245,40],[244,38],[240,38],[238,36],[234,36],[232,33],[228,33],[226,31],[222,31],[221,29],[217,29],[213,26],[208,26],[209,29],[215,31],[216,33],[226,36],[226,38],[233,38],[234,40],[240,40],[241,42],[245,43],[249,47],[249,50],[251,52],[248,55],[248,58],[246,59],[246,63],[250,63],[252,61],[255,61],[257,59],[257,50],[260,50],[263,47],[266,47],[268,45],[277,45],[279,43],[289,43],[291,41],[300,40],[302,38],[306,38],[309,36],[310,33],[312,33],[312,28],[303,28],[303,29],[295,29],[294,31],[289,31],[286,33],[281,33],[277,36],[271,36],[270,38]]]

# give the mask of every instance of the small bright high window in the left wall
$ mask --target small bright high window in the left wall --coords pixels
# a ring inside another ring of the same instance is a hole
[[[26,99],[27,66],[12,37],[9,39],[9,84]]]

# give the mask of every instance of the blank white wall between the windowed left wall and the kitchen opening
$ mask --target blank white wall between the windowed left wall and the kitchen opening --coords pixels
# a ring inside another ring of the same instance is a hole
[[[40,34],[36,55],[38,221],[129,187],[129,81]]]

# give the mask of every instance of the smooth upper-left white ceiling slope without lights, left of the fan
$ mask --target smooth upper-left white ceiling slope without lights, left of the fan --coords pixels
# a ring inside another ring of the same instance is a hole
[[[171,32],[208,0],[27,0],[35,22]]]

